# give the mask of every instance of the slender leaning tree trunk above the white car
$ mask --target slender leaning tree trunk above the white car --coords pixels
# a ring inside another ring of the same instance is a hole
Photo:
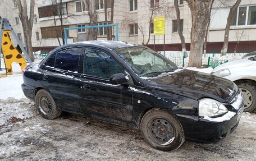
[[[232,23],[232,18],[234,16],[234,13],[237,11],[237,8],[238,8],[240,2],[241,2],[241,0],[237,0],[236,3],[230,8],[230,12],[227,17],[227,24],[226,24],[225,35],[224,35],[224,43],[223,43],[223,47],[221,49],[221,56],[225,56],[227,54],[228,36],[229,36],[230,26]]]

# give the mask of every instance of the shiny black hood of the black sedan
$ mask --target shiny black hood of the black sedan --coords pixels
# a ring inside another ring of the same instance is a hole
[[[149,78],[146,84],[149,88],[188,96],[192,99],[213,98],[222,103],[229,103],[237,92],[237,86],[232,81],[191,70]]]

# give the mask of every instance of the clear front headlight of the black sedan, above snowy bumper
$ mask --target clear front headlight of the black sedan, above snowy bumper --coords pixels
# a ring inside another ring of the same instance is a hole
[[[217,100],[210,98],[199,100],[199,116],[219,116],[227,112],[225,105]]]

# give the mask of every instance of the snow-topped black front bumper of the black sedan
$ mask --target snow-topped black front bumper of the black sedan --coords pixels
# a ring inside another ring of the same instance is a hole
[[[239,93],[240,94],[240,93]],[[178,116],[184,128],[186,139],[200,142],[216,142],[230,135],[239,125],[243,114],[243,99],[237,100],[236,107],[226,105],[228,113],[221,117],[185,117]]]

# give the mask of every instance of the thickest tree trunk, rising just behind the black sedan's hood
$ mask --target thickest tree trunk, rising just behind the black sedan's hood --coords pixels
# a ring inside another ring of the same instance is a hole
[[[202,67],[204,36],[214,0],[186,0],[192,17],[189,67]]]

